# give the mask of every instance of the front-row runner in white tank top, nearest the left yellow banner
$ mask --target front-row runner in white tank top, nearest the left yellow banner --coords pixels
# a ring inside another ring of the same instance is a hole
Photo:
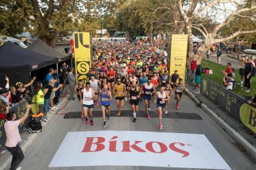
[[[94,108],[94,90],[90,88],[90,82],[86,83],[86,89],[82,89],[80,97],[83,99],[81,100],[81,104],[83,105],[83,112],[84,112],[84,118],[86,118],[86,124],[89,124],[88,122],[88,110],[90,112],[90,124],[93,126],[94,121],[92,120],[92,108]]]

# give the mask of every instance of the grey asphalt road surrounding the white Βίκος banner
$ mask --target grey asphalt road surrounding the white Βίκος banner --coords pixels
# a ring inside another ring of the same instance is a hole
[[[125,103],[123,110],[130,110],[129,104]],[[152,110],[155,110],[156,104],[152,102]],[[22,162],[22,169],[36,170],[36,169],[49,169],[49,170],[63,170],[63,169],[184,169],[184,168],[166,168],[166,167],[139,167],[139,166],[91,166],[91,167],[49,167],[51,160],[55,156],[61,142],[65,138],[68,132],[86,132],[86,131],[98,131],[98,130],[129,130],[129,131],[146,131],[146,132],[172,132],[172,133],[184,133],[184,134],[204,134],[210,143],[214,146],[216,151],[226,161],[231,169],[242,170],[256,169],[255,165],[247,158],[244,153],[239,151],[236,146],[236,142],[232,140],[218,125],[213,122],[200,108],[198,108],[187,95],[183,95],[181,101],[180,110],[174,109],[174,99],[172,96],[172,102],[170,104],[170,117],[164,118],[163,129],[158,130],[157,118],[151,118],[146,120],[145,117],[137,118],[135,124],[132,123],[132,118],[129,117],[111,117],[108,121],[107,128],[102,127],[102,118],[94,118],[95,125],[86,125],[81,119],[64,119],[68,112],[79,112],[81,106],[77,101],[69,102],[65,109],[61,112],[61,115],[55,115],[49,120],[49,123],[44,126],[41,134],[32,143],[26,157]],[[98,107],[96,110],[100,110]],[[143,110],[143,102],[140,102],[139,110]],[[115,100],[113,101],[113,110],[116,110]],[[117,111],[113,111],[111,114],[116,114]],[[173,116],[175,112],[184,113],[179,116]],[[196,114],[197,118],[193,119],[192,114]],[[168,116],[167,116],[168,117]],[[199,119],[201,118],[201,119]],[[73,146],[73,143],[70,143]],[[68,148],[69,146],[67,146]],[[71,156],[65,155],[67,157]],[[108,155],[105,155],[105,159]],[[99,159],[100,157],[95,157]],[[116,161],[123,159],[119,157]],[[205,159],[208,159],[205,157]],[[84,160],[86,161],[86,160]],[[132,162],[130,163],[132,165]],[[214,162],[218,164],[218,162]]]

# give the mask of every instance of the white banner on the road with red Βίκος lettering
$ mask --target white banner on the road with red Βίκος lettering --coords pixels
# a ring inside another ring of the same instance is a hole
[[[102,165],[230,169],[203,134],[69,132],[49,167]]]

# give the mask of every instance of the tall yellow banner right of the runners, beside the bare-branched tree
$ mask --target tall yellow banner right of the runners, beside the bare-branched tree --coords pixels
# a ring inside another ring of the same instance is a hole
[[[170,75],[177,70],[183,82],[185,81],[187,40],[185,34],[172,34],[170,44]]]

